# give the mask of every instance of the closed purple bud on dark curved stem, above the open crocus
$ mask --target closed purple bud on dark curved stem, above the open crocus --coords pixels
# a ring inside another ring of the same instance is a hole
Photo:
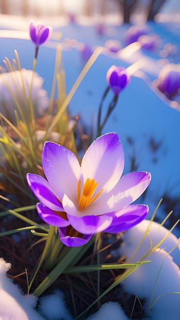
[[[107,83],[116,96],[129,84],[130,78],[123,66],[112,65],[106,74]]]

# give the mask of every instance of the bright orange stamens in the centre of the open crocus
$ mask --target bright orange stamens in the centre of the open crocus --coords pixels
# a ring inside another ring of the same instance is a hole
[[[96,182],[95,179],[90,179],[90,178],[86,179],[85,184],[82,188],[81,195],[80,195],[80,186],[81,186],[81,180],[78,181],[78,201],[79,201],[78,209],[84,210],[85,208],[88,207],[89,204],[94,202],[99,197],[103,189],[94,196],[96,188],[98,186],[98,182]]]

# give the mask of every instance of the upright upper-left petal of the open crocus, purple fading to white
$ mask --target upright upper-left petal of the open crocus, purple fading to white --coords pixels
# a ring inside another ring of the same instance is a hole
[[[61,145],[46,142],[42,153],[42,166],[58,198],[62,199],[64,194],[67,194],[75,201],[81,173],[75,154]]]

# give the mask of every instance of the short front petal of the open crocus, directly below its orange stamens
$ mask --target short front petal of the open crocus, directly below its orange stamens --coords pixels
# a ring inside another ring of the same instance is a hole
[[[67,214],[67,216],[73,228],[84,235],[95,234],[105,230],[113,220],[113,217],[106,215],[75,217]]]

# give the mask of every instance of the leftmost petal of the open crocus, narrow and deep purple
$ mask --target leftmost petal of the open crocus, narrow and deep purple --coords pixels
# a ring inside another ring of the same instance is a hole
[[[30,189],[40,202],[52,210],[64,211],[49,182],[38,174],[27,173]]]

